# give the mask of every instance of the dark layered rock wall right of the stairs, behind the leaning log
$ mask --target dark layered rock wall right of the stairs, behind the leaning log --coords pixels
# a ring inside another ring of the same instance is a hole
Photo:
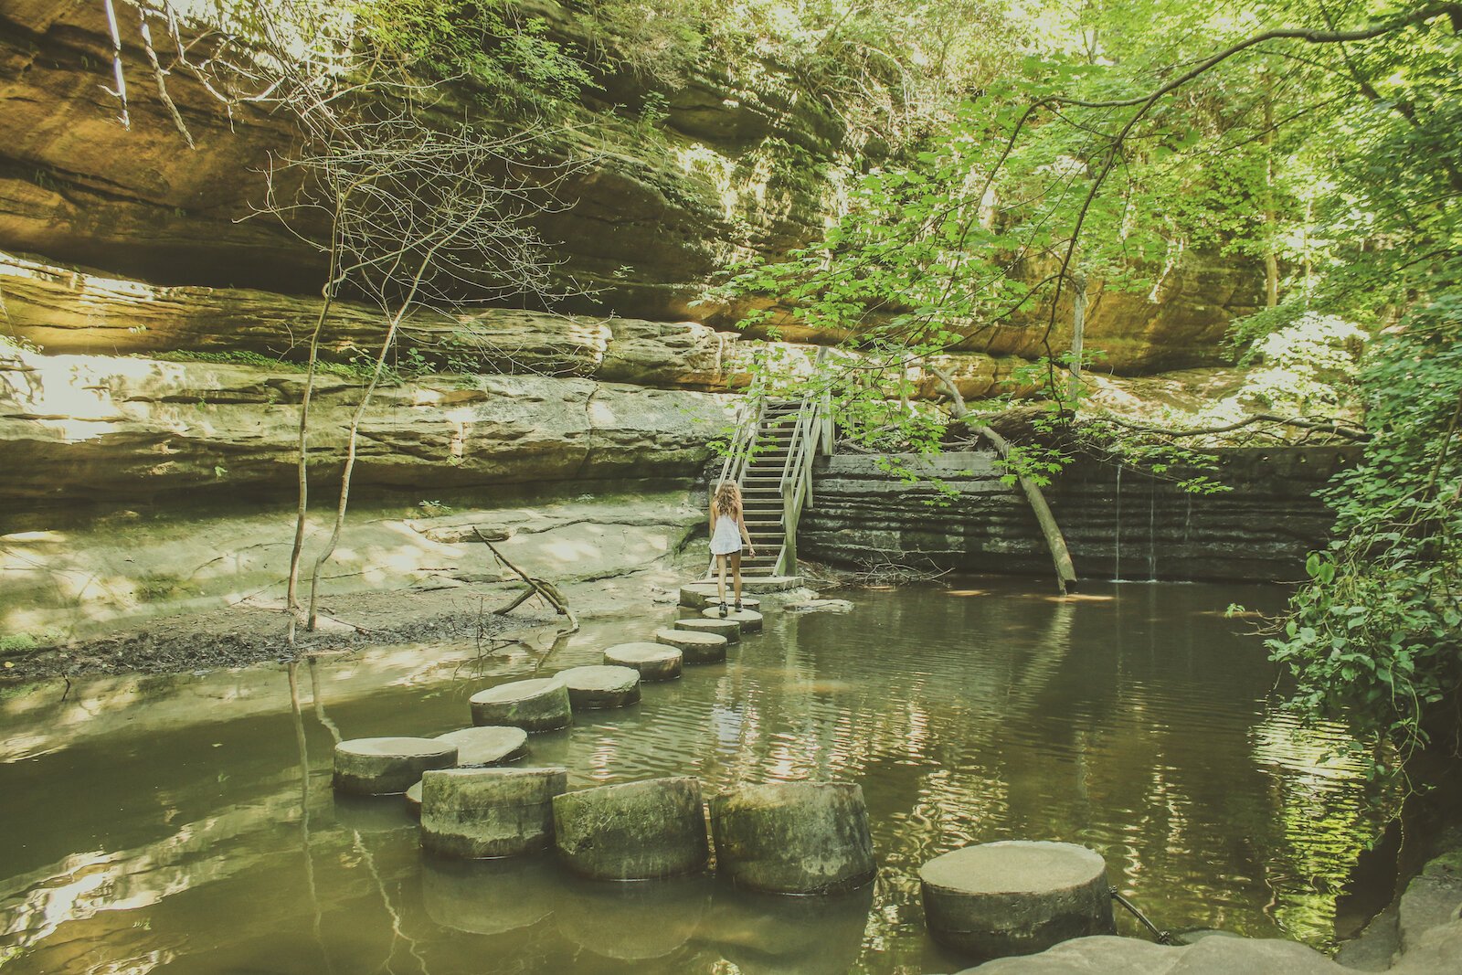
[[[1357,456],[1345,447],[1224,450],[1215,477],[1231,490],[1215,494],[1080,460],[1045,496],[1083,579],[1292,580],[1332,523],[1314,491]],[[896,478],[867,456],[822,459],[798,554],[844,566],[1051,572],[1035,516],[1019,488],[1001,484],[993,455],[908,463],[924,479]]]

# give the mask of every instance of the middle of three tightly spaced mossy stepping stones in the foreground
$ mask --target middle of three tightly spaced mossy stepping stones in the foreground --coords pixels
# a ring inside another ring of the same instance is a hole
[[[649,779],[564,792],[553,801],[554,843],[591,880],[658,880],[711,858],[700,782]]]

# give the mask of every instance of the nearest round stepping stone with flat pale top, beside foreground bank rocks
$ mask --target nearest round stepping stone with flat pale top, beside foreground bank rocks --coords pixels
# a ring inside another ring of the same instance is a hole
[[[928,933],[982,959],[1117,931],[1107,864],[1075,843],[965,846],[928,861],[918,877]]]

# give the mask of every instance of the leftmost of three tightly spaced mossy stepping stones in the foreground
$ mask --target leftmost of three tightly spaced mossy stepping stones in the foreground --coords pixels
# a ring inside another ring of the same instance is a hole
[[[442,769],[421,776],[421,846],[440,857],[513,857],[553,845],[553,797],[569,770]]]

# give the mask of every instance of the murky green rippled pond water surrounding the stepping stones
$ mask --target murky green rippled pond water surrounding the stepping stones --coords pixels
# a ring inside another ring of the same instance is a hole
[[[770,614],[728,664],[529,743],[529,762],[566,765],[572,788],[860,782],[882,871],[855,895],[588,884],[548,858],[424,861],[398,798],[332,797],[335,728],[462,726],[471,693],[532,661],[465,678],[427,662],[452,656],[442,648],[412,649],[301,669],[298,715],[284,671],[132,688],[115,710],[102,691],[80,709],[10,707],[6,737],[31,757],[0,766],[0,969],[956,971],[963,959],[924,934],[915,870],[1012,838],[1098,849],[1162,927],[1323,946],[1382,810],[1358,769],[1327,759],[1338,728],[1269,706],[1259,640],[1221,615],[1279,593],[1126,585],[1058,602],[1035,583],[980,585]],[[542,672],[598,662],[654,623],[592,626]]]

